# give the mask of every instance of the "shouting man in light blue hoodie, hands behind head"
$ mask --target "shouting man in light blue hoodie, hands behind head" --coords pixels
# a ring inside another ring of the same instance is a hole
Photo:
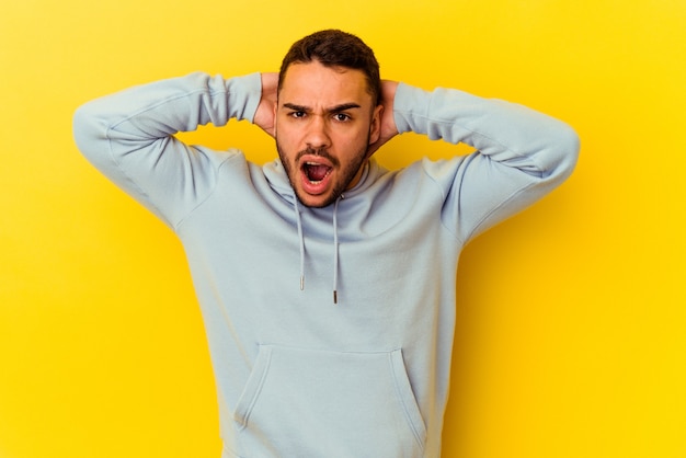
[[[264,167],[173,137],[230,118]],[[477,152],[387,171],[404,131]],[[181,238],[217,379],[222,457],[438,457],[462,247],[572,171],[576,135],[518,105],[379,80],[357,37],[278,76],[195,73],[82,106],[79,148]]]

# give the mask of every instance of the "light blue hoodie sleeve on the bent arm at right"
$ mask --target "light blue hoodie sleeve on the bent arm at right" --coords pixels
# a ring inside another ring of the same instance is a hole
[[[424,165],[444,193],[444,225],[464,243],[552,191],[572,173],[579,156],[579,137],[567,124],[458,90],[400,84],[393,115],[400,133],[476,149]]]

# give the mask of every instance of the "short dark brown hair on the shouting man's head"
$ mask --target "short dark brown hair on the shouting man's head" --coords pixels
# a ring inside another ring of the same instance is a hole
[[[381,101],[379,62],[374,51],[357,36],[339,30],[315,32],[297,41],[282,61],[278,72],[281,92],[286,70],[291,64],[309,64],[317,60],[324,67],[344,67],[361,70],[367,80],[367,91],[378,105]]]

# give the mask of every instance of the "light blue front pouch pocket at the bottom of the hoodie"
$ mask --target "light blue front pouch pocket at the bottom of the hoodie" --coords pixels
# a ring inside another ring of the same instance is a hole
[[[400,350],[261,345],[233,420],[245,457],[416,458],[426,436]]]

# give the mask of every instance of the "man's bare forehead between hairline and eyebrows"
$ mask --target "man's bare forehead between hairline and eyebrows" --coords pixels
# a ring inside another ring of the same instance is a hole
[[[324,67],[318,61],[291,64],[284,76],[281,103],[371,103],[365,75],[357,69]]]

